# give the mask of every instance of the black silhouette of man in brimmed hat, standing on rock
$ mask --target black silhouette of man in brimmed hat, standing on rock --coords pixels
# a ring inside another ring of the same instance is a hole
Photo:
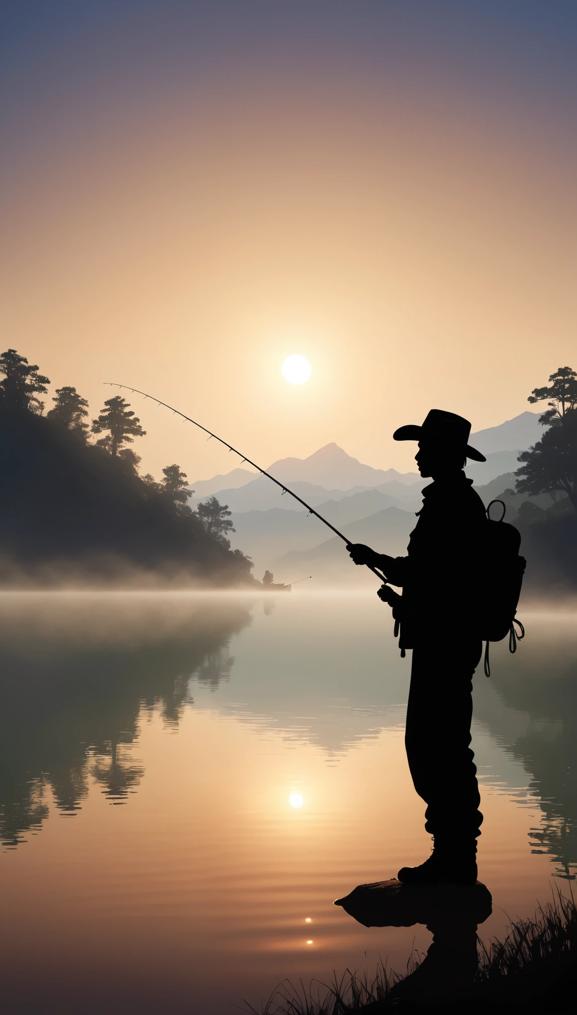
[[[483,815],[471,750],[472,678],[481,659],[477,600],[487,524],[485,506],[464,475],[467,458],[485,457],[467,444],[471,423],[431,409],[422,426],[402,426],[395,441],[418,441],[423,507],[406,557],[348,547],[356,564],[378,567],[388,586],[378,595],[393,607],[402,649],[413,649],[405,744],[415,789],[426,802],[425,828],[434,838],[419,867],[403,867],[413,884],[477,879],[477,838]]]

